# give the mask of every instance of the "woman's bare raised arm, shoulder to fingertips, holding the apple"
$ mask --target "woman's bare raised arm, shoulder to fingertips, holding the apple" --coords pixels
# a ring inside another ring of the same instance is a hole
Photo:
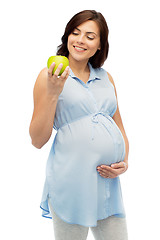
[[[69,75],[69,68],[66,68],[61,77],[58,78],[62,66],[59,66],[52,75],[54,66],[55,64],[52,64],[49,70],[44,68],[38,75],[34,86],[34,111],[29,133],[32,144],[36,148],[41,148],[52,134],[58,96]]]

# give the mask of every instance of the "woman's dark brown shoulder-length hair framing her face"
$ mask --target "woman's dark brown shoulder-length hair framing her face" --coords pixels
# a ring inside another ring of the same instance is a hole
[[[74,31],[76,27],[80,24],[92,20],[98,24],[100,30],[100,46],[101,49],[97,50],[97,52],[89,59],[90,64],[93,68],[101,67],[108,56],[109,51],[109,43],[108,43],[108,26],[105,18],[100,12],[96,12],[95,10],[84,10],[76,15],[74,15],[71,20],[67,23],[64,35],[62,36],[62,44],[58,46],[57,55],[63,55],[68,57],[69,51],[67,48],[68,36]]]

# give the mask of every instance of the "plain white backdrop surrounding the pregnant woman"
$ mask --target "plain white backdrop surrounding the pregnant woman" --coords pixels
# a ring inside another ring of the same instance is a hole
[[[1,239],[54,239],[52,220],[41,217],[39,205],[55,132],[41,150],[31,145],[33,86],[67,22],[84,9],[100,11],[110,31],[104,68],[115,81],[130,142],[129,169],[121,176],[129,239],[160,239],[160,15],[155,0],[0,4]]]

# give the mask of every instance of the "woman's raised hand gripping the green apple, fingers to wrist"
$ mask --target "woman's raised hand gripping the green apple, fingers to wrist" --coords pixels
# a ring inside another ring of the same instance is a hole
[[[58,98],[58,96],[61,94],[63,90],[65,81],[69,76],[70,70],[69,70],[69,66],[67,66],[64,72],[59,76],[59,73],[63,67],[63,64],[60,63],[56,71],[54,72],[54,74],[52,74],[54,67],[55,67],[55,62],[53,62],[48,69],[47,89],[48,89],[49,95],[52,95]]]

